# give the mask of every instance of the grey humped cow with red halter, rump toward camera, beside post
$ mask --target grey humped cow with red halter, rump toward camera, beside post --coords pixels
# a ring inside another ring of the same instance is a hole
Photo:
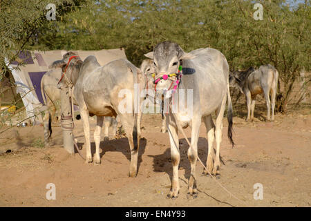
[[[127,59],[117,59],[100,66],[94,56],[88,56],[82,61],[74,52],[67,52],[62,60],[54,61],[50,68],[62,68],[65,77],[59,82],[59,87],[66,86],[66,84],[72,84],[75,87],[73,94],[79,104],[84,128],[86,163],[93,162],[88,115],[95,115],[97,119],[94,131],[95,164],[100,164],[101,161],[100,132],[104,116],[116,117],[118,115],[131,149],[129,176],[135,177],[140,141],[138,119],[141,113],[135,111],[137,107],[135,103],[138,102],[135,102],[133,97],[135,97],[134,84],[138,84],[142,77],[140,69]],[[129,105],[124,105],[124,99]],[[122,108],[124,106],[126,108]]]

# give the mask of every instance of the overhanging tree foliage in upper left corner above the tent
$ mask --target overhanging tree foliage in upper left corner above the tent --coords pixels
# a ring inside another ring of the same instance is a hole
[[[0,1],[0,106],[1,81],[8,71],[5,58],[9,62],[17,60],[19,53],[29,46],[30,41],[37,39],[42,30],[46,32],[55,26],[55,21],[50,21],[46,17],[48,3],[50,3],[48,0]],[[84,1],[55,0],[53,3],[56,9],[56,19],[59,19],[75,10]],[[17,68],[21,65],[23,62],[19,62]]]

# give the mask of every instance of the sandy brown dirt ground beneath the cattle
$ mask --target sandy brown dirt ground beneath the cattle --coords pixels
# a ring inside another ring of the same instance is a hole
[[[13,128],[0,135],[0,206],[311,206],[311,108],[276,115],[265,122],[265,106],[245,122],[246,107],[235,113],[232,148],[227,119],[218,180],[239,199],[230,197],[197,163],[198,198],[187,197],[190,164],[187,142],[180,135],[180,195],[167,199],[171,185],[169,135],[160,133],[160,115],[144,115],[138,176],[128,177],[127,138],[101,142],[102,164],[84,164],[62,148],[62,131],[53,128],[53,147],[43,146],[43,128]],[[84,143],[81,122],[75,136]],[[91,121],[94,126],[95,121]],[[92,127],[93,131],[94,127]],[[189,136],[189,129],[186,130]],[[111,132],[110,132],[111,137]],[[103,137],[102,137],[103,139]],[[10,149],[11,151],[7,151]],[[95,144],[92,137],[92,151]],[[1,153],[1,152],[0,152]],[[82,148],[85,155],[85,150]],[[200,128],[198,153],[207,159],[205,127]],[[46,184],[56,186],[56,200],[46,200]],[[254,184],[263,184],[263,200],[254,200]]]

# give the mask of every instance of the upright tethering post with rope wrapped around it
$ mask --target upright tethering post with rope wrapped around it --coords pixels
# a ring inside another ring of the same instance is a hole
[[[73,154],[73,113],[69,97],[68,86],[61,88],[61,124],[63,130],[64,148],[68,153]]]

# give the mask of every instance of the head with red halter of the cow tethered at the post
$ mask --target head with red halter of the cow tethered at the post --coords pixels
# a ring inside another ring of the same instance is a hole
[[[75,85],[78,78],[79,67],[83,61],[74,52],[67,52],[63,55],[62,60],[54,61],[48,68],[62,68],[62,75],[66,71],[65,75],[68,80]],[[66,86],[66,79],[63,77],[59,82],[58,87]]]

